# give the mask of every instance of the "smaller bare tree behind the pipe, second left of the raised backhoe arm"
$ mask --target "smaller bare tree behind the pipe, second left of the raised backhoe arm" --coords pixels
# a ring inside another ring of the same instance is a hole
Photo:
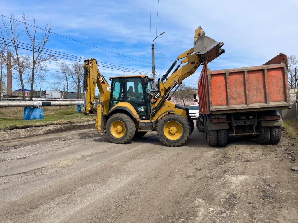
[[[66,94],[69,88],[69,74],[71,73],[70,68],[65,64],[59,64],[61,72],[52,73],[52,77],[55,78],[52,84],[52,89],[63,91],[63,98],[66,98]]]

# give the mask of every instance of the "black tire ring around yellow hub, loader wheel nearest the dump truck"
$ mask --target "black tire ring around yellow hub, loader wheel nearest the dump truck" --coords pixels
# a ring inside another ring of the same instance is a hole
[[[164,126],[170,122],[176,121],[182,127],[181,136],[178,139],[169,139],[164,135]],[[190,136],[190,124],[189,121],[181,114],[171,113],[163,116],[157,123],[156,133],[159,140],[167,146],[181,146],[187,141]]]

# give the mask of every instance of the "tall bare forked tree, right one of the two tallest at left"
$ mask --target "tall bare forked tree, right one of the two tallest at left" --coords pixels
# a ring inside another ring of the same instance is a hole
[[[42,51],[44,50],[44,46],[46,45],[46,42],[49,40],[49,35],[51,32],[51,24],[46,23],[44,24],[43,34],[42,37],[37,36],[37,25],[38,25],[38,19],[33,18],[33,30],[30,31],[29,26],[27,24],[27,18],[25,14],[23,14],[23,21],[26,27],[26,33],[27,36],[30,39],[30,43],[32,47],[32,58],[31,58],[31,78],[28,78],[31,82],[31,94],[30,94],[30,100],[32,100],[34,96],[34,89],[35,86],[38,84],[35,84],[35,81],[44,81],[45,80],[45,74],[42,76],[41,74],[41,68],[45,67],[42,63],[49,60],[57,60],[54,55],[45,55],[42,54]],[[36,77],[36,75],[39,75]],[[35,86],[34,86],[35,84]]]

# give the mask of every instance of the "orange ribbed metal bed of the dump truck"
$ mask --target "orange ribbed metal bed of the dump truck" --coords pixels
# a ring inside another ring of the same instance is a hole
[[[209,70],[198,80],[201,114],[288,109],[288,62],[279,54],[262,66]]]

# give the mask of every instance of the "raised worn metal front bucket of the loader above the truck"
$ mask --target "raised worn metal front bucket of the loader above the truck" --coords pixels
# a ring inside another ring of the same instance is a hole
[[[204,61],[207,63],[225,52],[225,50],[221,48],[223,45],[223,42],[217,42],[206,36],[201,26],[195,30],[195,38],[193,41],[195,53],[200,57],[204,57]]]

